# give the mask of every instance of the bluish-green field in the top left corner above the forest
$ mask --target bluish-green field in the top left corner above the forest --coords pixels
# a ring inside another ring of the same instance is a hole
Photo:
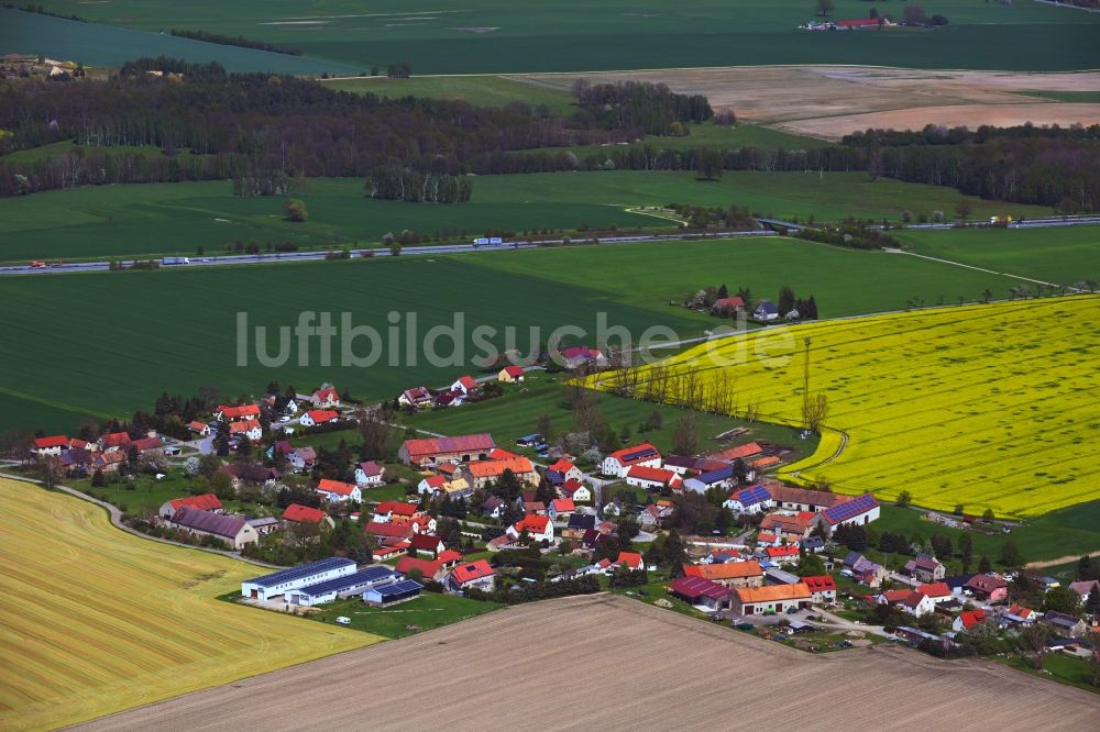
[[[85,16],[84,3],[66,3],[66,15]],[[165,30],[164,35],[160,33]],[[218,31],[215,29],[207,29]],[[43,55],[89,66],[122,66],[143,56],[183,58],[193,64],[217,60],[229,71],[277,74],[354,74],[359,69],[339,60],[274,54],[253,48],[222,46],[167,34],[164,25],[132,30],[77,23],[37,13],[0,8],[0,49],[3,53]]]

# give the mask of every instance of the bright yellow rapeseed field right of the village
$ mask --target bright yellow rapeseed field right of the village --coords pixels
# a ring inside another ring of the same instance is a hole
[[[761,420],[801,424],[805,337],[810,392],[827,396],[828,429],[785,477],[886,499],[909,490],[915,504],[979,514],[1100,499],[1100,298],[769,329],[695,347],[641,380],[670,367],[680,377],[667,379],[667,400],[676,401],[688,381],[705,391],[721,379],[735,413],[756,408]]]

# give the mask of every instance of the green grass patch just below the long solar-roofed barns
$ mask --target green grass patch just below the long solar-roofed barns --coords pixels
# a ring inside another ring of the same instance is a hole
[[[389,608],[371,608],[360,599],[337,600],[321,606],[320,612],[310,612],[310,620],[334,623],[340,615],[351,619],[355,630],[384,635],[388,639],[405,637],[442,628],[501,608],[496,602],[481,602],[454,595],[421,592],[420,597]],[[416,626],[410,629],[409,626]]]

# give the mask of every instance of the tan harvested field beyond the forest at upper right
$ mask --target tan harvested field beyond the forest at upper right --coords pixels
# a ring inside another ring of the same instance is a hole
[[[578,75],[509,77],[570,89]],[[739,119],[800,134],[837,137],[868,126],[1070,124],[1100,120],[1100,106],[1036,101],[1027,91],[1092,91],[1100,71],[1020,74],[869,66],[767,66],[587,74],[591,82],[650,81],[702,93]],[[1002,110],[1001,107],[1004,106]],[[960,111],[953,112],[953,108]],[[892,117],[858,119],[872,112]],[[832,123],[832,124],[831,124]]]

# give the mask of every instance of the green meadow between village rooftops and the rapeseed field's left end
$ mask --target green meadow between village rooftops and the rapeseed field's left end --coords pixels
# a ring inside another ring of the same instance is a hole
[[[408,423],[442,434],[466,434],[488,432],[496,444],[516,450],[518,437],[535,432],[541,414],[549,414],[556,433],[568,432],[574,426],[573,413],[568,403],[568,390],[562,385],[561,375],[531,373],[524,385],[505,385],[505,395],[484,402],[466,403],[461,407],[421,412],[408,419]],[[636,399],[597,393],[597,407],[607,423],[619,432],[630,430],[630,440],[653,443],[658,450],[672,450],[672,433],[682,410],[666,404],[652,404]],[[657,410],[663,420],[660,430],[639,432],[638,428]],[[750,432],[738,437],[737,444],[751,440],[767,440],[772,443],[794,447],[798,454],[810,454],[816,441],[800,441],[789,428],[756,422],[744,422],[716,414],[698,414],[700,451],[719,446],[715,437],[736,426],[747,426]],[[796,459],[794,457],[791,458]]]

